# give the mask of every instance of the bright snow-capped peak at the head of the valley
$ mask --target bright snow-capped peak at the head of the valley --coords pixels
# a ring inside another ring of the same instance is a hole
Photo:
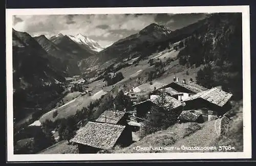
[[[101,50],[104,49],[99,43],[97,43],[96,41],[90,39],[89,37],[87,37],[86,35],[83,35],[81,33],[78,33],[75,36],[68,35],[68,37],[71,40],[73,40],[74,42],[76,42],[82,46],[88,47],[90,50],[100,52]]]

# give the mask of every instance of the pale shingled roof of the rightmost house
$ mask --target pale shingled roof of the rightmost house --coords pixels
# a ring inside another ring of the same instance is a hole
[[[223,90],[218,89],[217,87],[211,88],[209,90],[205,90],[202,92],[199,92],[189,98],[187,98],[185,101],[194,100],[197,98],[204,99],[210,103],[216,104],[220,107],[225,105],[227,101],[232,97],[231,93],[225,92]]]

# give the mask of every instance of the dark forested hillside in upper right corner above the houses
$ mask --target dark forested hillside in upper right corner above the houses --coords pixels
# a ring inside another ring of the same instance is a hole
[[[179,63],[199,70],[197,82],[206,87],[221,85],[242,98],[242,14],[215,13],[205,19],[203,26],[185,40]]]

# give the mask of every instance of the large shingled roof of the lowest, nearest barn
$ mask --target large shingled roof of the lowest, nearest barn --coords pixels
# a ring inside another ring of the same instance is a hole
[[[70,141],[99,149],[109,149],[115,146],[117,139],[125,126],[88,122]]]

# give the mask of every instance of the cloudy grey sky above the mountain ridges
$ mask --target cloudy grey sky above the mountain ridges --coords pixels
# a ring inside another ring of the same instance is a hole
[[[92,14],[92,15],[16,15],[13,28],[31,36],[47,38],[62,33],[84,34],[106,46],[157,23],[174,31],[205,18],[204,13],[191,14]]]

